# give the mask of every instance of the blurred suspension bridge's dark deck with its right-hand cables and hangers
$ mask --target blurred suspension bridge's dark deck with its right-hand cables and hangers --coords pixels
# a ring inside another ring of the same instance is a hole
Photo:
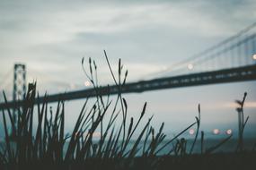
[[[255,81],[256,80],[256,22],[213,47],[192,55],[163,72],[156,72],[154,78],[145,81],[128,82],[95,89],[80,89],[65,93],[50,94],[48,102],[93,98],[96,95],[141,93],[156,89],[174,89],[207,84]],[[15,91],[14,91],[15,92]],[[14,93],[13,92],[13,93]],[[42,103],[44,97],[36,99]],[[0,103],[0,108],[22,106],[22,100]]]

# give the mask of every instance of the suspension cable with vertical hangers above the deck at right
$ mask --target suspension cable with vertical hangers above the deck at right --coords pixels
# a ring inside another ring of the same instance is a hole
[[[196,68],[198,68],[198,71],[199,71],[199,64],[205,64],[205,65],[202,65],[202,67],[200,68],[201,70],[205,70],[203,69],[203,67],[210,68],[210,66],[216,67],[216,69],[220,69],[219,64],[220,63],[223,64],[224,61],[225,61],[225,64],[230,64],[230,65],[229,66],[225,65],[223,68],[238,66],[237,64],[243,64],[243,65],[255,64],[256,60],[254,61],[252,60],[252,55],[256,53],[256,38],[255,38],[256,31],[253,30],[254,28],[256,28],[256,22],[252,23],[252,25],[246,27],[245,29],[239,31],[234,36],[230,38],[226,38],[225,40],[217,43],[213,47],[209,47],[206,50],[196,55],[192,55],[189,58],[182,60],[177,64],[172,64],[171,66],[167,67],[163,71],[151,73],[150,77],[152,77],[152,75],[155,76],[155,75],[161,75],[164,73],[171,73],[172,75],[179,74],[179,73],[186,73],[186,72],[191,73],[191,70],[196,71]],[[237,51],[235,52],[235,50]],[[227,56],[228,52],[230,53],[229,56]],[[244,54],[242,54],[242,52]],[[225,56],[222,56],[224,54]],[[235,56],[237,54],[238,56]],[[246,55],[247,57],[243,57],[243,55]],[[249,60],[249,58],[251,60]],[[214,59],[219,61],[215,61]],[[241,61],[235,61],[235,60],[241,60]],[[196,68],[194,67],[195,65],[197,65]],[[240,66],[243,66],[243,65],[240,65]],[[188,70],[190,70],[190,72],[188,72]],[[211,70],[214,70],[214,69],[211,69]]]

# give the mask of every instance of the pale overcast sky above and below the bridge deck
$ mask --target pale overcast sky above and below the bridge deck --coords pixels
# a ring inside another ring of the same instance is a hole
[[[0,0],[0,88],[11,92],[13,75],[5,75],[19,62],[27,66],[28,81],[38,81],[40,92],[81,89],[86,81],[81,59],[89,56],[100,65],[100,81],[111,83],[103,49],[114,68],[122,59],[128,81],[141,80],[243,30],[256,21],[255,9],[254,0]],[[236,121],[236,116],[230,117],[233,102],[244,91],[249,92],[248,114],[256,120],[255,85],[251,81],[166,89],[127,98],[131,112],[149,101],[150,114],[157,112],[156,123],[193,121],[197,104],[203,103],[207,125],[228,124]],[[229,115],[221,119],[222,112]],[[184,117],[189,118],[182,121]]]

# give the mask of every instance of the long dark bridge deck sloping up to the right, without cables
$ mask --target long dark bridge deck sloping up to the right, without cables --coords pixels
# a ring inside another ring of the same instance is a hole
[[[256,64],[243,66],[232,69],[219,70],[214,72],[199,72],[187,75],[166,77],[150,81],[138,81],[127,83],[121,87],[122,93],[138,93],[156,89],[172,89],[181,87],[190,87],[198,85],[236,82],[236,81],[253,81],[256,80]],[[119,93],[118,86],[105,86],[97,89],[97,93],[102,96]],[[82,89],[62,94],[53,94],[48,96],[48,102],[57,102],[58,100],[72,100],[79,98],[92,98],[97,95],[94,89]],[[43,97],[37,98],[36,103],[42,103]],[[0,108],[21,106],[22,101],[1,103]]]

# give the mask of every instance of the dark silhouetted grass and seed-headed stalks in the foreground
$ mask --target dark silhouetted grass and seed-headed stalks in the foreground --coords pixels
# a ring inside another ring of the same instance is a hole
[[[243,150],[243,130],[248,117],[245,121],[242,120],[237,152],[234,154],[214,153],[231,139],[231,135],[215,146],[204,149],[202,131],[201,153],[193,153],[199,136],[200,105],[195,122],[172,139],[168,139],[163,133],[164,123],[158,131],[151,126],[153,116],[142,124],[146,115],[146,103],[138,119],[131,117],[128,121],[128,103],[122,97],[122,86],[127,80],[128,71],[123,74],[123,65],[119,60],[119,73],[115,76],[105,51],[104,55],[111,76],[119,87],[116,100],[110,100],[110,96],[102,98],[98,91],[100,85],[97,80],[97,65],[89,58],[87,72],[83,58],[84,73],[93,84],[97,96],[93,106],[88,104],[93,98],[85,99],[73,132],[66,134],[65,101],[58,101],[56,112],[53,113],[47,94],[41,105],[35,103],[35,98],[39,98],[39,95],[36,95],[36,83],[31,83],[22,107],[16,108],[16,124],[11,109],[2,109],[5,138],[0,149],[0,169],[224,169],[252,166],[255,151]],[[246,94],[242,102],[237,101],[240,104],[237,110],[241,115],[245,98]],[[7,103],[5,95],[4,99]],[[107,114],[110,114],[108,119],[105,116]],[[120,123],[117,121],[119,117]],[[195,125],[195,139],[188,149],[187,140],[180,137]],[[16,132],[16,140],[10,139],[8,129]],[[97,131],[100,131],[98,140],[94,137]],[[132,141],[133,138],[136,140]],[[170,146],[172,149],[167,154],[160,155],[163,149],[169,149]],[[255,163],[253,165],[255,166]]]

